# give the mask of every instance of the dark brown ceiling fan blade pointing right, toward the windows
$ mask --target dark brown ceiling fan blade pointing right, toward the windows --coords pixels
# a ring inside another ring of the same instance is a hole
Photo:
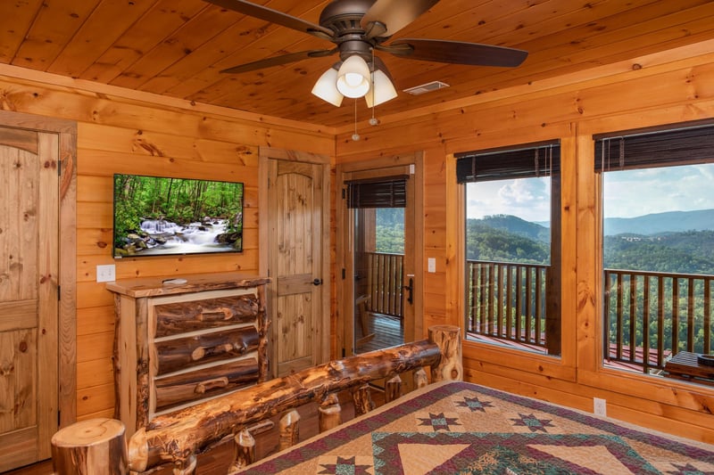
[[[527,51],[504,46],[423,38],[398,39],[389,45],[382,45],[378,49],[412,60],[505,68],[519,66],[528,55]]]

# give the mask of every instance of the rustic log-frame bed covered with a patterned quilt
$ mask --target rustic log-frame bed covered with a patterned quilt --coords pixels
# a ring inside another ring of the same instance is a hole
[[[430,385],[423,367],[431,370]],[[411,372],[418,389],[399,397],[399,375]],[[463,382],[461,375],[459,328],[432,327],[428,340],[162,415],[129,444],[118,421],[79,422],[55,434],[54,471],[123,474],[168,463],[176,475],[189,474],[196,455],[233,438],[229,473],[714,473],[714,446]],[[386,380],[387,404],[373,409],[367,383],[376,379]],[[336,393],[345,390],[358,416],[341,423]],[[305,403],[320,405],[320,435],[298,444],[295,407]],[[281,450],[255,461],[251,432],[278,414]]]

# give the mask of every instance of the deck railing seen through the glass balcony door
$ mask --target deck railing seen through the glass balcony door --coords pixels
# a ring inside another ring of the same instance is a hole
[[[369,312],[402,317],[403,254],[365,252]]]

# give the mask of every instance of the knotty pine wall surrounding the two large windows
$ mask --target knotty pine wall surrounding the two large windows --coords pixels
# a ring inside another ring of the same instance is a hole
[[[602,291],[598,176],[593,134],[714,118],[714,41],[621,61],[458,103],[386,117],[379,127],[339,130],[338,162],[425,152],[424,326],[461,324],[463,216],[455,152],[560,138],[562,173],[562,356],[535,356],[466,342],[466,379],[714,442],[714,388],[601,367]],[[431,94],[438,94],[431,93]],[[662,192],[667,192],[662,190]]]

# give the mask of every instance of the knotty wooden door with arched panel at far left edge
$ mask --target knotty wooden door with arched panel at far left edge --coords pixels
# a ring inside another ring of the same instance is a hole
[[[58,427],[59,138],[0,128],[0,471]]]

